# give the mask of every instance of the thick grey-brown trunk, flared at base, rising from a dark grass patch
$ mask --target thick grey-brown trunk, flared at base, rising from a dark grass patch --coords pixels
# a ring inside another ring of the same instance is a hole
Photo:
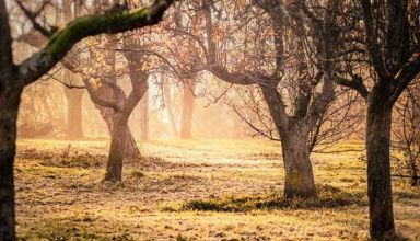
[[[281,133],[284,163],[284,197],[316,196],[314,173],[307,148],[307,131],[295,126]]]

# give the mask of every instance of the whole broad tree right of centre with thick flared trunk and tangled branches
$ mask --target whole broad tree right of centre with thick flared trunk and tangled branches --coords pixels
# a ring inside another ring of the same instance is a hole
[[[313,197],[316,187],[306,144],[310,130],[334,100],[339,37],[335,10],[338,2],[328,1],[326,5],[314,3],[311,9],[303,1],[288,5],[278,1],[254,1],[264,14],[245,8],[245,13],[240,15],[245,23],[236,23],[234,31],[230,31],[232,27],[223,31],[220,22],[235,21],[240,16],[214,22],[218,15],[229,15],[221,13],[229,7],[238,9],[235,3],[220,5],[222,3],[201,2],[206,41],[192,33],[185,35],[198,43],[205,56],[202,65],[208,71],[225,82],[257,85],[261,90],[282,144],[284,196]],[[258,15],[265,18],[256,18]],[[269,27],[265,27],[267,25]],[[237,34],[242,28],[255,31],[254,37],[248,37],[249,34],[242,37]],[[243,46],[241,55],[244,57],[240,58],[235,53],[228,56],[229,46],[237,46],[238,42],[243,42],[240,46]],[[275,54],[270,56],[268,53]],[[249,59],[248,62],[244,62],[244,58]],[[282,89],[288,90],[288,94]],[[287,96],[291,99],[292,107],[287,106]]]

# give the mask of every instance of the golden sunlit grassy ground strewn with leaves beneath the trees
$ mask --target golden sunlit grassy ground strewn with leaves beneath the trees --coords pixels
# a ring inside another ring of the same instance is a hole
[[[70,146],[69,146],[70,145]],[[363,146],[312,160],[319,197],[284,200],[278,142],[153,140],[104,183],[108,142],[20,140],[21,240],[365,240]],[[420,240],[420,188],[394,180],[398,232]]]

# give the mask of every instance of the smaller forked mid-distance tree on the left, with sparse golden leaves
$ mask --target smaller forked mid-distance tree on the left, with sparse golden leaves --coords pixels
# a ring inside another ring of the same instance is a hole
[[[131,81],[131,92],[126,96],[125,91],[118,85],[118,79],[125,73],[116,70],[118,39],[116,36],[107,36],[104,41],[105,48],[101,47],[100,51],[90,50],[91,54],[86,66],[95,66],[94,62],[104,59],[104,64],[100,68],[89,68],[89,71],[93,71],[94,76],[83,73],[74,66],[69,68],[83,76],[88,93],[107,124],[110,135],[110,148],[105,180],[118,182],[121,181],[122,176],[124,158],[140,156],[136,140],[128,127],[128,118],[147,91],[144,83],[147,84],[149,74],[141,70],[141,64],[138,64],[140,62],[138,55],[126,54]],[[127,38],[124,39],[124,42],[126,41]],[[95,45],[97,46],[97,43]],[[68,66],[70,65],[68,64]]]

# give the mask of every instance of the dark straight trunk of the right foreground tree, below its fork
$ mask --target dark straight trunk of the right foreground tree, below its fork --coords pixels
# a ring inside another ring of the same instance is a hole
[[[393,106],[376,102],[368,104],[368,196],[371,238],[384,240],[395,234],[389,167]]]

